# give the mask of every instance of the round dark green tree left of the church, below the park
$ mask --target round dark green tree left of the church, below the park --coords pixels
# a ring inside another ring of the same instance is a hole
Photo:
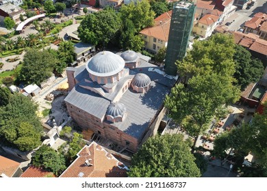
[[[17,80],[27,84],[36,83],[40,85],[43,80],[51,76],[55,63],[58,63],[58,59],[48,50],[37,51],[36,49],[30,49],[24,56],[23,67],[18,74]]]

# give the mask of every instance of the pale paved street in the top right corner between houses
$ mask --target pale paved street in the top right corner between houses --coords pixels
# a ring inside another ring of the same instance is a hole
[[[244,23],[247,20],[253,18],[253,15],[257,12],[267,13],[267,1],[266,0],[257,0],[255,5],[249,10],[236,10],[236,13],[227,18],[223,25],[227,22],[233,22],[231,25],[227,26],[230,31],[237,31],[238,29],[244,26]],[[234,20],[234,21],[233,21]]]

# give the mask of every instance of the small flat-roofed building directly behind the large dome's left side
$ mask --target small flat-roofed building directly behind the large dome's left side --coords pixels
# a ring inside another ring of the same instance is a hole
[[[75,60],[72,65],[79,65],[84,63],[92,57],[95,52],[95,46],[84,42],[79,42],[74,45]]]

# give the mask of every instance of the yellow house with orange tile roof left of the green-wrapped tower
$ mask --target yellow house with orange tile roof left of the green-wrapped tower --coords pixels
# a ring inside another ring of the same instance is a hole
[[[144,50],[156,54],[160,48],[168,44],[168,35],[170,31],[170,18],[173,11],[165,12],[155,18],[153,27],[140,31],[144,40]]]

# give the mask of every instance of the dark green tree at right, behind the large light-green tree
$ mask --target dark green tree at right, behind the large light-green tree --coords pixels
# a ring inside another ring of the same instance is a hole
[[[251,59],[251,53],[246,48],[236,45],[233,60],[236,63],[236,72],[233,75],[237,79],[237,85],[244,90],[249,83],[256,83],[264,73],[264,65],[259,59]]]

